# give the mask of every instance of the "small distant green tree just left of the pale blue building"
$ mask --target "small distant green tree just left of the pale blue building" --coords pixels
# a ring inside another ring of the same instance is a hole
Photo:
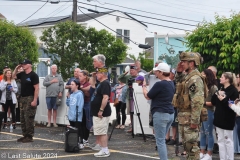
[[[150,53],[148,52],[139,53],[138,57],[134,56],[133,54],[129,54],[129,57],[134,61],[140,61],[141,68],[143,70],[148,72],[153,69],[153,59],[149,59]]]

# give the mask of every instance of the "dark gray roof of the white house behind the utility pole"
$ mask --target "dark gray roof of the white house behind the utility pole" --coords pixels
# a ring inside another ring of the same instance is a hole
[[[96,14],[96,13],[78,14],[77,15],[77,22],[86,22],[86,21],[92,20],[91,17],[98,18],[98,17],[107,15],[107,14],[112,13],[112,12],[115,12],[115,11],[100,12],[98,14]],[[129,16],[126,13],[123,13],[123,14]],[[90,17],[87,16],[87,15],[89,15]],[[129,16],[129,17],[134,19],[135,21],[141,23],[142,25],[146,26],[144,23],[136,20],[135,18],[133,18],[131,16]],[[67,16],[59,16],[59,17],[48,17],[48,18],[33,19],[33,20],[30,20],[30,21],[26,21],[24,23],[20,23],[18,25],[19,26],[28,26],[28,27],[55,25],[56,23],[64,22],[64,21],[67,21],[67,20],[72,20],[72,16],[71,15],[67,15]]]

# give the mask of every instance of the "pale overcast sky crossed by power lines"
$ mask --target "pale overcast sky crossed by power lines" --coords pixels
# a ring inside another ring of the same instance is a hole
[[[33,14],[42,5],[44,5],[45,0],[39,1],[10,1],[10,0],[0,0],[0,13],[3,14],[8,20],[14,21],[14,23],[19,23]],[[58,1],[58,0],[54,0]],[[41,10],[34,14],[31,19],[37,18],[47,18],[47,17],[57,17],[63,15],[70,15],[72,12],[72,0],[66,2],[67,0],[61,0],[59,4],[47,3]],[[105,7],[115,10],[120,10],[128,13],[139,14],[143,16],[148,16],[152,18],[158,18],[162,20],[168,20],[172,22],[166,22],[161,20],[154,20],[150,18],[143,18],[139,16],[133,16],[134,18],[150,22],[158,25],[164,25],[167,27],[175,27],[183,30],[193,30],[197,22],[203,19],[207,21],[213,21],[214,15],[217,13],[220,16],[229,17],[232,11],[240,11],[240,1],[239,0],[93,0],[88,2],[87,0],[78,0],[79,2],[96,5],[99,7]],[[110,5],[110,4],[112,5]],[[97,9],[100,12],[108,11],[99,7],[88,6],[78,3],[79,6],[86,7],[89,9]],[[155,14],[144,13],[136,10],[126,9],[117,7],[124,6],[137,10],[142,10],[145,12],[153,12]],[[86,10],[82,10],[88,12]],[[80,14],[80,13],[79,13]],[[160,15],[156,15],[160,14]],[[165,15],[165,16],[164,16]],[[170,18],[175,17],[175,18]],[[185,19],[185,20],[183,20]],[[182,25],[177,23],[186,23],[188,25]],[[147,36],[153,36],[151,32],[158,32],[161,34],[183,34],[185,31],[172,29],[167,27],[155,26],[151,24],[146,24],[148,26],[148,31],[146,31]]]

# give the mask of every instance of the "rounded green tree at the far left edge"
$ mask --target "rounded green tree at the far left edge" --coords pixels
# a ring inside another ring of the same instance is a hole
[[[0,46],[0,71],[6,65],[14,69],[25,58],[38,61],[36,37],[28,28],[0,21]]]

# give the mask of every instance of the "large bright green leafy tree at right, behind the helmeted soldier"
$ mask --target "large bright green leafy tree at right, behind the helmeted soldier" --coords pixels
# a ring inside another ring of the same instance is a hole
[[[215,22],[203,21],[191,33],[187,33],[187,47],[201,53],[204,63],[201,69],[214,65],[218,75],[225,71],[238,73],[240,62],[240,14],[230,18],[215,16]]]

